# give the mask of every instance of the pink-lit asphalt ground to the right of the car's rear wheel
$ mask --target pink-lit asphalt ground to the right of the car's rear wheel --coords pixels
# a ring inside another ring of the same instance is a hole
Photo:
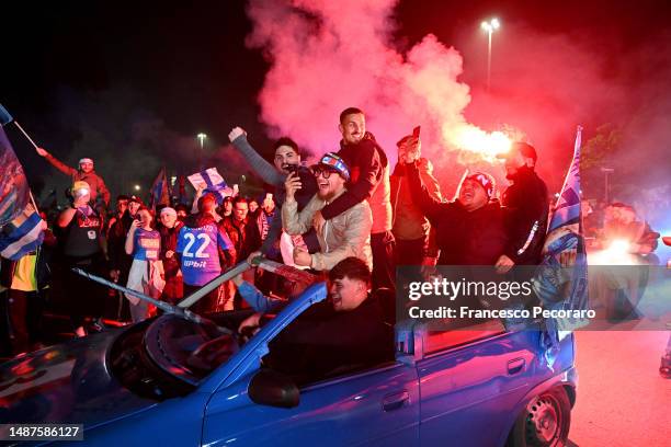
[[[671,379],[658,374],[664,331],[578,331],[573,446],[671,446]],[[569,444],[571,445],[571,444]]]

